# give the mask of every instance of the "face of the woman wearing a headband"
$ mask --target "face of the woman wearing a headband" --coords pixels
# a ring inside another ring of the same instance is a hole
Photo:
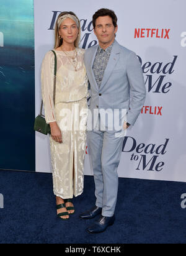
[[[76,22],[70,18],[65,19],[60,26],[59,34],[63,39],[63,42],[74,43],[78,37],[79,29]]]

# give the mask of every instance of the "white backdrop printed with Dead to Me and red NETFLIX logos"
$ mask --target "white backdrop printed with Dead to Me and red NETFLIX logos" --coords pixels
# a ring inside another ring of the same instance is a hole
[[[39,111],[40,66],[54,46],[54,25],[62,11],[73,11],[81,20],[81,45],[97,44],[92,14],[102,7],[118,16],[118,42],[136,52],[143,68],[147,98],[134,127],[123,143],[120,177],[186,181],[185,164],[185,60],[184,0],[35,0],[35,96]],[[88,145],[87,145],[88,146]],[[86,175],[89,166],[86,152]],[[36,169],[51,171],[48,139],[36,134]]]

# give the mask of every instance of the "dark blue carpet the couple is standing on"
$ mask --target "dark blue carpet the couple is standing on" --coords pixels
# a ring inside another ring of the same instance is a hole
[[[79,214],[94,206],[94,179],[85,176],[84,194],[74,198],[76,214],[56,217],[50,173],[0,171],[1,244],[185,244],[185,183],[120,178],[116,222],[101,234],[85,232],[94,220]]]

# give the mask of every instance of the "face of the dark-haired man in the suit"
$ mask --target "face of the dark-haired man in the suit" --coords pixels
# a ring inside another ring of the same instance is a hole
[[[115,40],[118,27],[114,27],[110,16],[99,17],[95,21],[94,33],[99,43],[109,44]]]

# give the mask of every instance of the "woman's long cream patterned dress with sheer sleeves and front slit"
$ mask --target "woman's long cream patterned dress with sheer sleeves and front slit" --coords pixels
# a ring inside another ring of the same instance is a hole
[[[76,48],[67,52],[72,57],[77,56],[77,66],[73,65],[71,57],[64,52],[55,52],[57,56],[55,106],[53,52],[47,52],[42,63],[42,98],[45,119],[47,123],[55,121],[58,123],[63,140],[63,143],[59,144],[50,135],[53,191],[56,196],[68,199],[73,198],[73,195],[79,196],[84,186],[88,80],[84,66],[84,50]]]

